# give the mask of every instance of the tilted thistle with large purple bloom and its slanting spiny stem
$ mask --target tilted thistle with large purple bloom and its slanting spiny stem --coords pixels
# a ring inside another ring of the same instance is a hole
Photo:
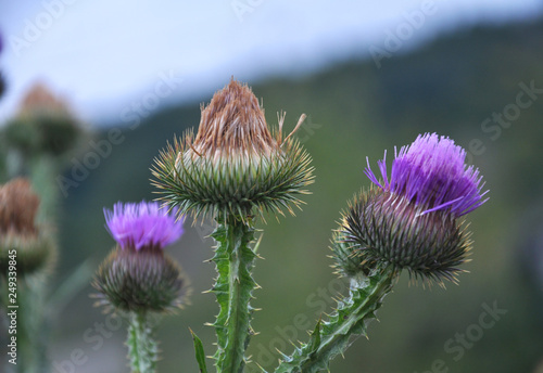
[[[376,186],[350,203],[332,239],[334,267],[351,281],[349,296],[317,323],[307,344],[283,356],[277,373],[328,370],[366,334],[402,269],[441,285],[456,282],[471,244],[462,217],[487,201],[479,170],[465,157],[451,139],[426,133],[395,154],[390,179],[384,158],[378,163],[382,180],[368,160],[365,173]]]

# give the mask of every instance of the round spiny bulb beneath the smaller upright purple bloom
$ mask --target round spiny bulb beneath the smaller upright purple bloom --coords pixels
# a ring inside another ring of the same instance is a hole
[[[97,271],[98,306],[125,312],[174,311],[181,306],[181,269],[161,248],[115,248]]]

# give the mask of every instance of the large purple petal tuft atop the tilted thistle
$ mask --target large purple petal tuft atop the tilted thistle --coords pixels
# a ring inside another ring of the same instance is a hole
[[[390,180],[387,177],[387,152],[378,162],[382,176],[379,182],[369,167],[364,173],[377,185],[394,194],[403,195],[425,210],[420,215],[449,208],[454,217],[466,215],[484,202],[488,191],[481,194],[484,183],[479,169],[466,168],[466,151],[446,137],[435,133],[419,134],[400,153],[394,151]]]

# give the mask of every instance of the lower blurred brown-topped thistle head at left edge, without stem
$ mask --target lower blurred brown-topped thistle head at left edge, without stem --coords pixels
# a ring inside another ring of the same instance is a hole
[[[16,253],[18,273],[33,274],[52,266],[55,246],[35,217],[39,197],[23,178],[0,185],[0,271],[5,273],[10,255]]]

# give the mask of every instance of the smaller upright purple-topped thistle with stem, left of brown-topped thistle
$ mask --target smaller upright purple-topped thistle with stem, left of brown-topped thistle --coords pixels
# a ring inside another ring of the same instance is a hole
[[[182,221],[157,203],[117,203],[104,214],[117,246],[94,276],[92,285],[100,292],[97,305],[128,317],[132,372],[154,372],[157,345],[150,314],[174,311],[184,300],[181,269],[163,253],[164,246],[181,236]]]

